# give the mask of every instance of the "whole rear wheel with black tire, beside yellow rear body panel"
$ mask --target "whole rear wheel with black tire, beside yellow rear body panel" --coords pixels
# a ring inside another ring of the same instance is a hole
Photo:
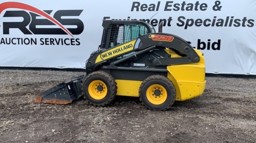
[[[174,103],[176,90],[165,76],[151,75],[142,81],[139,89],[142,105],[150,110],[168,110]]]

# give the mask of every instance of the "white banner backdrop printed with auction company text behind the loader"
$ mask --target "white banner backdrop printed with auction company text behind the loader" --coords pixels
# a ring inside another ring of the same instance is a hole
[[[256,75],[255,12],[255,0],[0,0],[0,66],[85,68],[102,19],[136,19],[201,50],[206,73]]]

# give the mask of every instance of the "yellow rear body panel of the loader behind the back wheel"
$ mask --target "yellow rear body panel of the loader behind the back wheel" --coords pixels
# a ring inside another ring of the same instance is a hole
[[[203,54],[195,50],[200,56],[200,62],[167,66],[168,78],[174,83],[176,99],[184,101],[202,95],[205,89],[205,64]]]

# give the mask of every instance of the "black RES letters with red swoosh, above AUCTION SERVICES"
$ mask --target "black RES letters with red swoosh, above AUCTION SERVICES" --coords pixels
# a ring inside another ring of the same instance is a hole
[[[3,22],[3,34],[9,34],[10,29],[19,29],[24,34],[68,34],[73,37],[73,34],[79,35],[84,30],[83,22],[80,19],[73,18],[74,16],[80,16],[83,10],[59,10],[54,13],[53,17],[51,17],[49,14],[51,14],[53,10],[41,11],[33,6],[20,2],[4,2],[0,4],[0,14],[8,8],[20,10],[6,11],[3,15],[4,18],[17,17],[23,18],[24,20],[21,22]],[[72,16],[72,18],[67,19],[68,16]],[[45,19],[37,19],[37,17],[44,17]],[[47,28],[49,25],[57,25],[59,28]],[[75,28],[65,28],[64,25],[71,25]]]

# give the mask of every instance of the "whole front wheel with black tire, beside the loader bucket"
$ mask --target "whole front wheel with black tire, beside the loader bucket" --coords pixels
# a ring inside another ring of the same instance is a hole
[[[106,72],[95,71],[85,77],[82,83],[84,99],[94,106],[106,106],[116,96],[115,79]]]

